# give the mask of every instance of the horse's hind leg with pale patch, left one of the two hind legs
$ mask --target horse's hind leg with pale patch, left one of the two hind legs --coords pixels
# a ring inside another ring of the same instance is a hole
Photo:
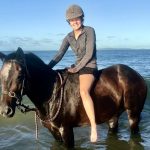
[[[110,132],[117,132],[118,131],[118,116],[115,115],[113,116],[109,121],[109,131]]]

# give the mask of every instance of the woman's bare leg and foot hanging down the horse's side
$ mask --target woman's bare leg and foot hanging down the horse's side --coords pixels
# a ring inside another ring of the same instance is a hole
[[[97,141],[97,129],[95,122],[94,105],[90,96],[91,86],[94,82],[92,74],[83,74],[79,76],[80,94],[83,101],[83,106],[91,123],[91,142]]]

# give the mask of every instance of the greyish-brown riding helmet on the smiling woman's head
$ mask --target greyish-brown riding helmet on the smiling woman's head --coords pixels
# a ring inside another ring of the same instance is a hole
[[[78,5],[71,5],[66,11],[66,20],[84,17],[84,12],[82,8]]]

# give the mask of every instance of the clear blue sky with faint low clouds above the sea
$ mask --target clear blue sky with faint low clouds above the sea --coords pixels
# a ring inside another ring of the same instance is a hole
[[[0,0],[0,51],[58,50],[72,31],[66,9],[80,5],[97,49],[150,49],[150,0]]]

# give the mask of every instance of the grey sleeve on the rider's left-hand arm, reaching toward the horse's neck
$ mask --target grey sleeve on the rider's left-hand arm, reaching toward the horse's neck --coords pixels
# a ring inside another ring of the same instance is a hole
[[[69,47],[69,42],[67,39],[67,36],[63,39],[63,42],[60,46],[59,51],[57,52],[57,54],[54,56],[54,58],[50,61],[49,66],[51,68],[53,68],[64,56],[64,54],[66,53],[66,51],[68,50]]]

